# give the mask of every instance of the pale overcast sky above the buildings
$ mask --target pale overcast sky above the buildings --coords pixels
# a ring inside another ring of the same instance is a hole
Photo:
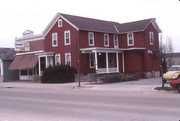
[[[56,13],[125,23],[156,18],[163,38],[180,52],[179,0],[3,0],[0,3],[0,47],[14,47],[25,30],[40,34]]]

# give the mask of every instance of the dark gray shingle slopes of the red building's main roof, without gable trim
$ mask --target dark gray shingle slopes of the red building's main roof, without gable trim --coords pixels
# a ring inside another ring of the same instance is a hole
[[[70,21],[73,25],[78,27],[80,30],[86,31],[97,31],[97,32],[107,32],[107,33],[127,33],[131,31],[143,31],[154,18],[128,22],[120,24],[113,21],[104,21],[68,14],[62,14],[64,18]]]

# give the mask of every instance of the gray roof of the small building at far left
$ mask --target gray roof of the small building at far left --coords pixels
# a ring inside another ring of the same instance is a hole
[[[14,48],[0,48],[0,59],[1,60],[13,60],[16,52]]]

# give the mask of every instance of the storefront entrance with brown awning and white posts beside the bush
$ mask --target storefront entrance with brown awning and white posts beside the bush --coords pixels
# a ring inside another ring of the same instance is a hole
[[[9,69],[19,70],[20,80],[34,80],[45,68],[53,66],[53,57],[53,52],[18,54]]]

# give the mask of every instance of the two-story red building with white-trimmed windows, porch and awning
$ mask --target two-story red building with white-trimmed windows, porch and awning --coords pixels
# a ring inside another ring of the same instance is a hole
[[[154,18],[120,24],[57,13],[42,34],[27,30],[16,38],[19,53],[9,69],[19,70],[21,80],[56,64],[68,64],[84,75],[154,77],[160,71],[160,32]]]

